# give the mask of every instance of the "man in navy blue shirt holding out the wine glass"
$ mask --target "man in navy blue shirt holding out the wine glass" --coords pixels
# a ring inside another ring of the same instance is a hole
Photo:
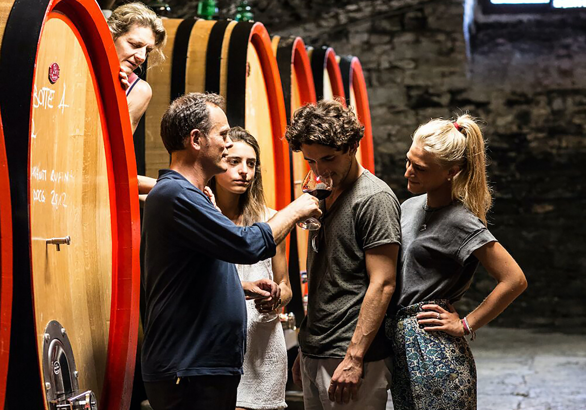
[[[295,222],[319,216],[305,194],[266,223],[239,227],[214,206],[206,183],[227,169],[232,143],[216,94],[186,94],[163,115],[171,166],[144,206],[145,334],[142,377],[154,410],[230,409],[242,374],[246,298],[275,303],[268,279],[240,282],[235,263],[274,256]]]

